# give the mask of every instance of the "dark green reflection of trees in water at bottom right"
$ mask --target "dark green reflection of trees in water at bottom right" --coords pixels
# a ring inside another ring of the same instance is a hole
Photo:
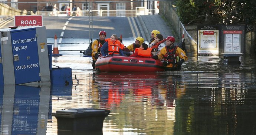
[[[200,73],[194,78],[212,83],[191,84],[177,99],[175,133],[255,134],[255,74],[219,73],[214,79]]]

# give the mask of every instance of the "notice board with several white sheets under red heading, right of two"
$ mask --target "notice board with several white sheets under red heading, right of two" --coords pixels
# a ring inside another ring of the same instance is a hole
[[[221,26],[221,53],[242,53],[244,44],[244,26]]]

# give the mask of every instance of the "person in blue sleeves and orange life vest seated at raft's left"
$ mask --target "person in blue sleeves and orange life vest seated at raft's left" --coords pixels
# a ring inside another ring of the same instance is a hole
[[[120,48],[120,41],[117,40],[117,36],[113,34],[110,38],[106,39],[106,43],[104,43],[101,47],[101,55],[102,57],[106,57],[106,55],[116,55],[119,54],[124,56],[123,51]]]

